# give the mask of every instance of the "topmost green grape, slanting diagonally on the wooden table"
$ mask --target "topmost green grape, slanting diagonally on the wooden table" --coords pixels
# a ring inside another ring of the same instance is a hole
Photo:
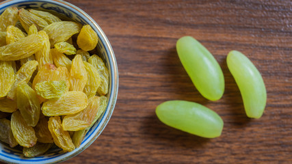
[[[180,38],[176,51],[200,94],[209,100],[219,100],[224,92],[224,76],[213,55],[191,36]]]

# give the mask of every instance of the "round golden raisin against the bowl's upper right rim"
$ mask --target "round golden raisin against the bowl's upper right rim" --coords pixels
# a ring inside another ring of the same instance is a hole
[[[92,29],[90,25],[83,25],[78,37],[77,44],[80,49],[84,51],[93,50],[98,42],[97,33]]]

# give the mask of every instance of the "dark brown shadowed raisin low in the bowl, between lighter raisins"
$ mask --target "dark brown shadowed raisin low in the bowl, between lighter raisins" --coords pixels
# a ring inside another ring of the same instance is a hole
[[[36,137],[38,138],[38,142],[41,143],[53,143],[53,137],[49,131],[48,120],[45,117],[41,117],[34,127],[34,131],[36,132]]]

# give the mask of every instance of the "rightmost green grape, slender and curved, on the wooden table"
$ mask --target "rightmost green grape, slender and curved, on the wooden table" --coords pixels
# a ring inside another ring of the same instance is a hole
[[[239,51],[230,51],[226,60],[241,92],[246,115],[249,118],[261,118],[267,102],[267,91],[260,72]]]

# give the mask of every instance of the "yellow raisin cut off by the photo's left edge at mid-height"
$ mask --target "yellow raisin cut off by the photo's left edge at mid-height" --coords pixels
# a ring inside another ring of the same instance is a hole
[[[12,61],[0,61],[0,98],[8,94],[14,81]]]

